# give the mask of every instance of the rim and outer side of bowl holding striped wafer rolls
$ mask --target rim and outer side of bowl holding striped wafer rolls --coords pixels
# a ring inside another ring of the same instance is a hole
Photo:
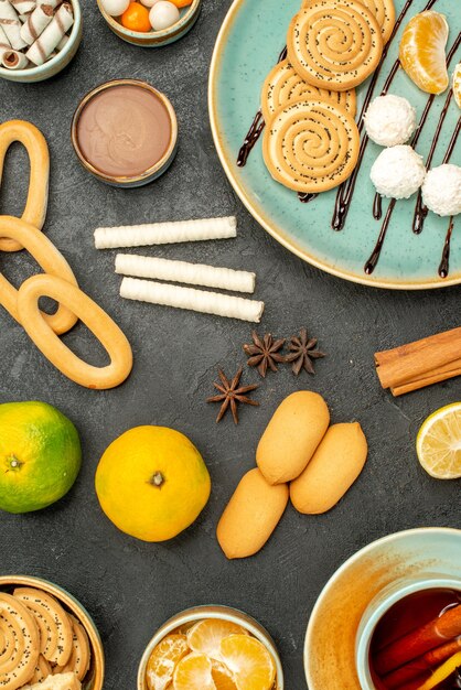
[[[9,82],[20,82],[21,84],[31,84],[34,82],[44,82],[58,74],[73,60],[82,41],[83,20],[79,0],[67,0],[74,10],[74,23],[71,29],[69,37],[62,51],[54,57],[45,62],[39,67],[30,67],[25,69],[6,69],[0,67],[0,77]]]

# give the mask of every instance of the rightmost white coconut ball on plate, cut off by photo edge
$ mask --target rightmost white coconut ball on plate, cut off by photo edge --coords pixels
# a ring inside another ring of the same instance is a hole
[[[439,216],[461,213],[461,168],[452,163],[432,168],[422,185],[422,202]]]

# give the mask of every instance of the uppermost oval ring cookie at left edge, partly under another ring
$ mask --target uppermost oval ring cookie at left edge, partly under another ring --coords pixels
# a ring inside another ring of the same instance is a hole
[[[30,161],[30,183],[22,219],[42,229],[49,203],[50,151],[42,132],[30,122],[10,120],[0,125],[0,184],[3,165],[10,145],[19,141],[25,147]],[[1,251],[19,251],[21,242],[0,234]]]

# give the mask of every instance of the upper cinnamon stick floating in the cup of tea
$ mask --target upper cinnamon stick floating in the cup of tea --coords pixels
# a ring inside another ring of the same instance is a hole
[[[385,676],[396,668],[422,656],[443,642],[461,635],[461,605],[449,608],[441,616],[404,635],[384,647],[375,659],[375,669]]]

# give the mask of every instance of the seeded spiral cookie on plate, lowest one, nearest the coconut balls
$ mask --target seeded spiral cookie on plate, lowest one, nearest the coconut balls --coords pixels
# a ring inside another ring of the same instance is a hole
[[[277,182],[296,192],[336,187],[353,172],[358,151],[354,118],[328,100],[294,100],[265,128],[266,165]]]

